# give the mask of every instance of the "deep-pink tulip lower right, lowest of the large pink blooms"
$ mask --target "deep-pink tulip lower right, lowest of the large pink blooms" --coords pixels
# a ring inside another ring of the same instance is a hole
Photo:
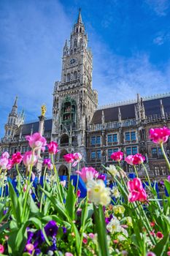
[[[142,181],[140,178],[134,178],[132,181],[128,181],[128,190],[130,192],[128,195],[129,202],[144,202],[147,200],[147,193],[142,187]]]

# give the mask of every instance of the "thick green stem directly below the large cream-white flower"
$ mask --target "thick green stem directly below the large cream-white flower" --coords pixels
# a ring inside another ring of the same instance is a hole
[[[96,232],[98,234],[98,247],[100,250],[100,255],[109,256],[106,224],[104,220],[104,211],[101,205],[99,205],[97,208],[93,204],[93,208],[94,208]]]

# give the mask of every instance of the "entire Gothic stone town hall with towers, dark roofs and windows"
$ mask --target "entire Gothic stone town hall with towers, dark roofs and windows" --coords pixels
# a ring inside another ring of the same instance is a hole
[[[120,102],[98,108],[98,92],[92,88],[92,53],[88,49],[88,34],[79,12],[69,43],[63,47],[61,81],[55,82],[53,91],[53,118],[44,123],[47,142],[57,141],[60,153],[56,157],[59,175],[67,174],[68,166],[63,155],[80,152],[82,165],[102,170],[101,164],[110,165],[112,152],[142,153],[152,179],[168,175],[161,148],[148,138],[151,127],[170,126],[170,94]],[[18,100],[12,107],[1,139],[1,151],[10,154],[28,151],[26,135],[39,131],[39,121],[24,124],[18,114]],[[170,141],[166,144],[170,156]],[[42,153],[48,157],[47,150]],[[132,172],[123,163],[123,168]],[[139,169],[142,176],[143,170]]]

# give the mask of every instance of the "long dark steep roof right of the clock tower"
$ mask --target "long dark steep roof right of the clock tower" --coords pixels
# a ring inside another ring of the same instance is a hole
[[[143,99],[144,109],[146,116],[151,115],[161,115],[160,99],[162,99],[163,107],[165,113],[170,113],[170,96],[169,97],[160,97],[156,99]],[[91,124],[101,124],[101,114],[102,110],[104,111],[104,120],[105,122],[109,121],[118,121],[118,109],[120,108],[122,120],[135,118],[134,107],[137,102],[127,103],[123,105],[115,105],[111,107],[104,107],[96,110],[93,114]]]

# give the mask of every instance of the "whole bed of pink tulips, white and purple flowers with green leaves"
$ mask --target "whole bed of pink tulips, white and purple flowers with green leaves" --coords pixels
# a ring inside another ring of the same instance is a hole
[[[166,127],[151,129],[150,138],[163,149],[170,135]],[[144,157],[128,156],[125,161],[133,165],[136,178],[129,179],[121,168],[123,152],[115,152],[111,158],[117,165],[104,169],[112,176],[112,189],[104,184],[104,175],[93,167],[79,170],[81,154],[66,154],[69,163],[68,180],[60,181],[54,164],[58,144],[50,142],[39,133],[26,137],[31,151],[24,156],[17,152],[9,159],[4,152],[0,158],[0,253],[2,255],[170,255],[170,197],[158,199],[152,185]],[[47,145],[50,159],[45,159],[43,184],[33,186],[32,167],[38,160],[37,151]],[[20,170],[20,163],[26,173]],[[138,177],[136,165],[143,165],[144,186]],[[7,173],[16,167],[17,187],[5,183]],[[77,184],[70,178],[72,167],[77,167]],[[47,181],[50,171],[50,181]],[[87,195],[80,199],[79,178],[85,182]],[[9,195],[5,196],[5,186]],[[170,195],[170,177],[164,181]],[[147,195],[146,190],[150,192]]]

